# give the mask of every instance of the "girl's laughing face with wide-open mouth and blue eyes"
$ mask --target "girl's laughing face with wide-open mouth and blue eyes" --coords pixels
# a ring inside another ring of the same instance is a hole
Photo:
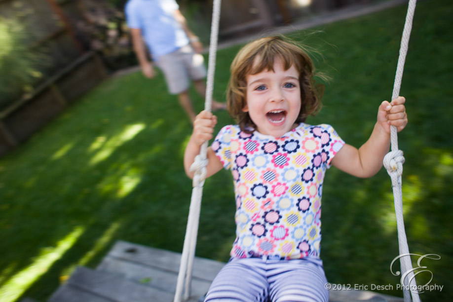
[[[301,87],[299,72],[294,66],[284,70],[282,61],[276,59],[274,71],[248,75],[246,81],[247,104],[242,111],[249,113],[260,133],[282,137],[297,126]]]

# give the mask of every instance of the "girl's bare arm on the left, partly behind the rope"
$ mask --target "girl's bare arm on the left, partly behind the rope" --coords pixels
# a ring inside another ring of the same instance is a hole
[[[195,156],[200,153],[201,145],[213,138],[214,126],[217,124],[217,117],[208,111],[199,113],[193,122],[193,132],[184,152],[184,170],[190,179],[194,173],[190,171],[190,165],[193,163]],[[206,157],[209,163],[206,167],[206,178],[219,172],[222,168],[222,162],[216,156],[216,153],[208,148]]]

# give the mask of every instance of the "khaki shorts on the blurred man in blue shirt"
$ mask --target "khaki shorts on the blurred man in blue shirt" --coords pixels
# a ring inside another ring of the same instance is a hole
[[[155,64],[164,73],[171,94],[188,90],[190,80],[206,77],[203,56],[195,53],[190,45],[160,56]]]

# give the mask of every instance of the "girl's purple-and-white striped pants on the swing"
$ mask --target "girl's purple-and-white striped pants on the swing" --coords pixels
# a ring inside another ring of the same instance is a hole
[[[328,302],[322,261],[233,258],[217,274],[205,302]]]

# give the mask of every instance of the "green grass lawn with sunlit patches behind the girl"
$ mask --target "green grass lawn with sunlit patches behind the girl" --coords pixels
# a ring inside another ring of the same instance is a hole
[[[406,10],[322,26],[309,35],[307,42],[324,54],[319,68],[332,80],[322,111],[308,123],[330,123],[357,147],[365,142],[378,105],[391,97]],[[453,288],[452,16],[451,0],[418,3],[400,93],[409,114],[399,134],[409,248],[442,257],[421,263],[432,272],[431,284],[444,286],[421,294],[423,301],[448,301]],[[238,49],[219,51],[218,100],[225,99]],[[194,99],[201,110],[202,100]],[[217,130],[232,122],[226,112],[218,117]],[[118,239],[180,252],[191,193],[182,164],[190,133],[162,76],[151,81],[134,73],[106,80],[1,158],[0,301],[27,296],[44,302],[76,265],[94,267]],[[332,168],[323,191],[321,257],[328,280],[391,284],[393,291],[383,293],[402,296],[390,272],[398,242],[385,170],[362,180]],[[206,181],[198,256],[227,261],[234,204],[227,171]],[[420,273],[417,282],[430,278]]]

